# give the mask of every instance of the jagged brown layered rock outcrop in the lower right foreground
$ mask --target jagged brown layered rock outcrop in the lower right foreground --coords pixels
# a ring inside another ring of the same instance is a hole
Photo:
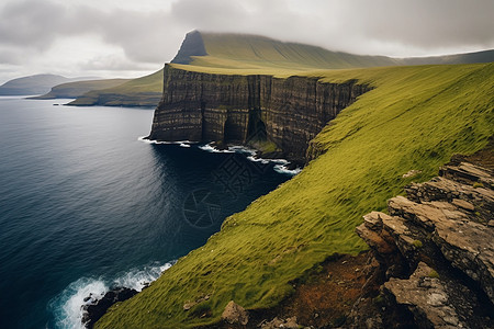
[[[417,328],[492,328],[492,170],[453,158],[440,177],[405,191],[389,201],[389,215],[370,213],[356,229],[381,264],[388,307],[401,306]],[[355,322],[375,324],[358,308]]]

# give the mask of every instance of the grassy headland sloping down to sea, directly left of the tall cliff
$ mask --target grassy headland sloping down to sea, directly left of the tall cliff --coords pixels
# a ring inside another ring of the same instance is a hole
[[[120,86],[89,91],[69,105],[156,106],[162,94],[162,69]]]

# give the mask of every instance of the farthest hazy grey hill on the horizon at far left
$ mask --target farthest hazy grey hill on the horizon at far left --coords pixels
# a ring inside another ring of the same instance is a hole
[[[0,95],[32,95],[47,93],[52,87],[89,78],[65,78],[56,75],[36,75],[7,81],[0,86]]]

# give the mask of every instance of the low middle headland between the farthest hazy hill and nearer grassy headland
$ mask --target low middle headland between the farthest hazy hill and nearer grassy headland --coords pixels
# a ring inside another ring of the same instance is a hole
[[[31,98],[33,100],[76,99],[91,90],[108,89],[120,86],[130,79],[105,79],[76,81],[55,86],[48,93]]]

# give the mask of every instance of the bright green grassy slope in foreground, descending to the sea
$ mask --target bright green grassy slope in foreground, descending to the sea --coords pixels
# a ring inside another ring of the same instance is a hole
[[[98,328],[187,328],[216,321],[229,299],[269,307],[291,280],[328,256],[366,248],[361,216],[384,209],[405,184],[425,181],[454,152],[494,133],[494,64],[319,71],[326,81],[375,87],[314,140],[327,150],[299,175],[228,217],[221,232],[149,288],[114,306]],[[402,179],[411,169],[423,170]],[[188,300],[211,298],[183,311]],[[205,310],[211,318],[200,319]]]

